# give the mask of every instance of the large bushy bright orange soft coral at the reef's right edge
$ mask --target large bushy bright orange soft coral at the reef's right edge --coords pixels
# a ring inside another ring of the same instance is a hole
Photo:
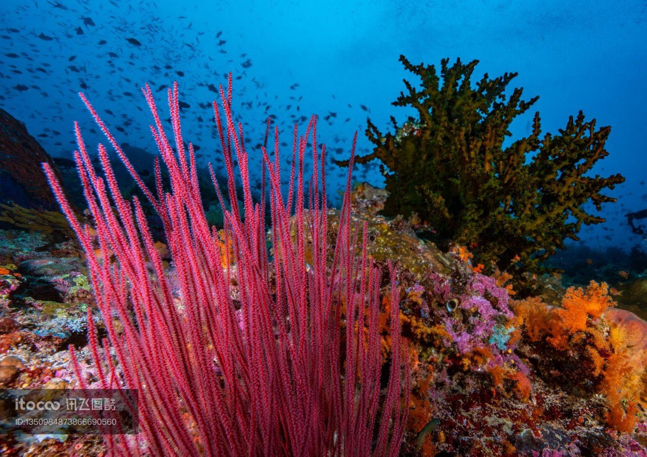
[[[597,391],[606,396],[609,425],[630,432],[637,421],[637,404],[647,394],[647,354],[630,354],[634,340],[640,337],[632,339],[613,321],[610,328],[604,325],[600,318],[614,305],[606,283],[591,281],[586,290],[569,288],[559,308],[539,298],[517,301],[513,308],[516,324],[523,325],[529,341],[545,341],[562,354],[579,354]],[[519,381],[517,385],[523,387]]]

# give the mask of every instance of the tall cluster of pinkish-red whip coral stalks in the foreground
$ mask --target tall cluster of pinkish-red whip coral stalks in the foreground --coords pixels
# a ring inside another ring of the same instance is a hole
[[[336,242],[329,246],[325,147],[317,143],[317,119],[311,118],[303,136],[294,128],[287,200],[281,193],[275,128],[274,160],[262,148],[263,176],[265,170],[269,176],[270,256],[265,202],[252,201],[243,127],[234,123],[231,112],[230,76],[228,89],[220,87],[221,104],[214,102],[231,202],[226,210],[212,170],[225,212],[227,243],[223,243],[204,215],[191,143],[186,157],[177,84],[168,91],[175,150],[148,85],[142,92],[155,121],[151,132],[170,176],[171,190],[164,192],[158,161],[157,195],[144,186],[116,139],[81,97],[162,218],[179,295],[171,289],[142,205],[137,198],[130,203],[120,194],[104,146],[99,145],[102,178],[91,165],[76,125],[79,149],[74,155],[102,260],[94,254],[89,227],[77,221],[52,169],[43,166],[87,255],[107,329],[109,341],[100,344],[93,321],[88,320],[96,384],[139,389],[141,432],[132,440],[104,436],[109,449],[125,455],[141,454],[143,449],[153,456],[396,455],[406,424],[402,405],[408,404],[409,383],[400,340],[399,290],[389,265],[391,351],[388,382],[381,389],[382,274],[367,256],[366,228],[364,239],[358,239],[360,230],[351,230],[352,165]],[[306,211],[303,161],[309,141],[314,166]],[[232,154],[242,181],[244,211],[237,203]],[[262,195],[265,199],[266,192]],[[114,253],[114,261],[109,253]],[[123,327],[119,334],[114,315]],[[362,325],[369,331],[355,331]],[[116,360],[109,355],[111,348]],[[73,347],[70,352],[84,387],[87,383]]]

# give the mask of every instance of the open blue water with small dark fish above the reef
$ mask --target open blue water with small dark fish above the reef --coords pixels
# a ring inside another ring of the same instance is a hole
[[[526,98],[540,95],[513,125],[513,138],[528,134],[534,110],[544,131],[556,132],[580,109],[613,127],[610,156],[595,172],[620,172],[627,181],[611,192],[619,203],[604,207],[607,223],[584,227],[582,238],[593,247],[641,243],[624,214],[647,208],[647,3],[454,3],[5,0],[0,106],[25,121],[52,156],[71,157],[74,120],[89,144],[104,141],[76,96],[82,91],[120,142],[155,152],[138,89],[146,82],[162,88],[155,94],[164,105],[163,86],[178,81],[190,105],[182,110],[184,137],[199,145],[201,160],[213,161],[212,111],[199,103],[214,99],[208,85],[224,83],[231,71],[250,150],[263,140],[269,114],[288,143],[295,120],[318,114],[320,139],[331,156],[345,158],[355,130],[360,152],[369,147],[367,116],[386,127],[391,114],[406,115],[390,105],[408,76],[400,54],[414,63],[479,59],[476,76],[518,72],[513,82]],[[342,174],[330,165],[329,179],[339,183]],[[359,166],[355,176],[382,182],[377,164]]]

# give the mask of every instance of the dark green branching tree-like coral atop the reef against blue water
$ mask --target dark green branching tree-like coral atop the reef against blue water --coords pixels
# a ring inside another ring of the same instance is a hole
[[[522,100],[523,88],[504,92],[516,73],[495,79],[487,74],[472,85],[478,61],[433,65],[400,61],[420,77],[421,85],[404,81],[393,105],[413,107],[417,117],[382,134],[368,121],[367,137],[375,145],[358,163],[379,159],[386,178],[384,214],[413,212],[437,232],[439,239],[469,246],[486,269],[542,271],[540,261],[564,249],[566,238],[577,240],[582,224],[604,221],[585,210],[589,201],[615,201],[600,193],[622,183],[620,174],[589,176],[595,163],[608,156],[604,145],[610,127],[596,129],[595,119],[571,117],[557,135],[540,137],[539,113],[532,134],[503,142],[512,120],[538,99]],[[338,165],[347,165],[339,161]]]

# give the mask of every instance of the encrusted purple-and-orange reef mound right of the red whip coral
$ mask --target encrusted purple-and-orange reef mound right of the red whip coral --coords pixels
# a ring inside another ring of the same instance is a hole
[[[613,405],[620,405],[624,413],[628,403],[611,398],[610,389],[624,389],[632,379],[611,377],[618,360],[602,367],[609,375],[604,385],[602,374],[593,376],[593,365],[587,364],[591,343],[586,338],[578,344],[575,338],[569,340],[567,352],[547,343],[548,334],[532,340],[523,310],[558,308],[538,298],[514,300],[509,275],[485,276],[464,247],[445,253],[419,239],[406,221],[375,216],[374,197],[365,187],[356,187],[355,208],[366,214],[353,217],[357,227],[367,223],[371,256],[392,259],[400,270],[400,320],[411,369],[403,455],[642,455],[647,443],[644,416],[633,416],[636,428],[631,434],[623,427],[631,416],[622,414],[618,422],[611,414]],[[550,286],[556,289],[559,282],[551,281]],[[555,327],[548,314],[542,314],[545,320],[537,321],[542,328],[554,329],[556,336],[588,335],[574,330],[586,315],[585,328],[602,335],[596,340],[602,347],[598,355],[607,358],[605,348],[619,347],[622,352],[626,346],[630,360],[644,358],[639,343],[647,334],[633,314],[616,319],[628,322],[622,330],[625,336],[618,332],[620,340],[609,340],[610,326],[599,316],[604,309],[610,322],[613,312],[604,287],[553,290],[552,296],[564,303],[564,311],[556,315],[565,312],[568,325]],[[582,372],[573,372],[573,367]]]

